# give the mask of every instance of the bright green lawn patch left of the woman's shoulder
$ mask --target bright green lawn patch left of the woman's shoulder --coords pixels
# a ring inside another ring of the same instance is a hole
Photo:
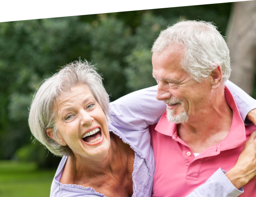
[[[49,197],[55,170],[34,163],[0,161],[0,197]]]

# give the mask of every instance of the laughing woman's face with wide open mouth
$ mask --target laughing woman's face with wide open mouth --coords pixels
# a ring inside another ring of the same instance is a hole
[[[97,157],[108,152],[107,119],[88,86],[73,86],[59,97],[55,123],[60,144],[68,145],[76,157]]]

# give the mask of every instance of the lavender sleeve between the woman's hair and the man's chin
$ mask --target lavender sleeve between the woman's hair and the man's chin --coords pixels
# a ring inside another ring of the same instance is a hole
[[[158,86],[132,92],[110,103],[111,123],[118,129],[141,131],[158,122],[166,104],[156,99]]]

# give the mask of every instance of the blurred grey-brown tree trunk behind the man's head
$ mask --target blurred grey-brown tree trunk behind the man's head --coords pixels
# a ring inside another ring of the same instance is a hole
[[[256,66],[256,0],[233,3],[227,27],[230,81],[252,94]]]

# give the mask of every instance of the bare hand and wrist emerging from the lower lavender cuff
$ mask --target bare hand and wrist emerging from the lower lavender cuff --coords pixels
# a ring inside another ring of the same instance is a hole
[[[256,175],[256,131],[246,142],[236,165],[225,175],[239,189]]]

